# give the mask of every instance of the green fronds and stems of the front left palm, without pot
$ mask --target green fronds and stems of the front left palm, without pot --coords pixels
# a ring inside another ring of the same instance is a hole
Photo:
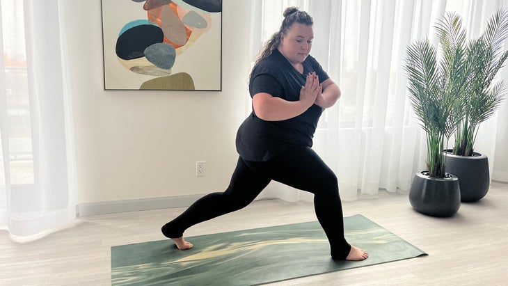
[[[438,24],[449,40],[438,58],[429,40],[418,40],[406,49],[404,72],[411,106],[427,134],[427,168],[431,177],[446,177],[446,153],[450,136],[463,118],[466,87],[463,42],[466,34],[459,17],[448,13]],[[438,34],[439,35],[439,34]]]

